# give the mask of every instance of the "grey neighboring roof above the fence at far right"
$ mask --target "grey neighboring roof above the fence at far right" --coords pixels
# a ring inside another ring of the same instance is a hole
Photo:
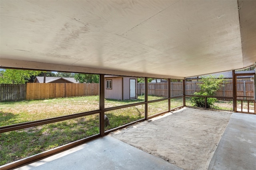
[[[236,71],[235,72],[236,74],[242,74],[242,73],[255,73],[255,70],[248,70],[248,71]],[[201,79],[202,77],[205,77],[205,76],[209,76],[209,75],[212,75],[212,76],[220,76],[220,75],[223,75],[224,78],[232,78],[232,71],[228,71],[228,72],[219,72],[219,73],[214,73],[214,74],[207,74],[207,75],[204,75],[204,76],[198,76],[198,79]],[[237,78],[251,78],[253,76],[238,76]],[[192,80],[192,79],[197,79],[197,77],[187,77],[186,79],[188,80]]]

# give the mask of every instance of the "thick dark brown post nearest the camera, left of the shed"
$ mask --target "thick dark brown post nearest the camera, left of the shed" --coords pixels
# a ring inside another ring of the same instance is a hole
[[[100,136],[105,132],[105,76],[100,74]]]

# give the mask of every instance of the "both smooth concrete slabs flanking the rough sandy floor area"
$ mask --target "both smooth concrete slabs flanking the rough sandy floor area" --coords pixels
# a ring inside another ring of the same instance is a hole
[[[232,113],[208,170],[254,170],[256,115]],[[16,168],[18,170],[182,170],[110,136]]]

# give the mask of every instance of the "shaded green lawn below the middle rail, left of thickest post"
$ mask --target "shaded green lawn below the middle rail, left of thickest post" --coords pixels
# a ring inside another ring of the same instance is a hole
[[[0,134],[0,165],[99,133],[98,114]]]

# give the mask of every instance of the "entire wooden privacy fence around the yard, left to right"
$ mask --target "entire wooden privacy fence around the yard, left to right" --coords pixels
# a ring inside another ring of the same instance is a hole
[[[186,82],[186,95],[200,92],[198,84],[202,82]],[[183,94],[182,82],[170,83],[170,96]],[[232,97],[232,82],[227,82],[216,92],[216,96]],[[138,95],[145,93],[145,84],[138,83]],[[0,100],[18,101],[44,98],[62,98],[74,96],[93,96],[99,94],[98,83],[27,83],[0,84]],[[148,95],[168,96],[168,83],[148,83]],[[237,96],[254,96],[252,81],[237,82]]]

